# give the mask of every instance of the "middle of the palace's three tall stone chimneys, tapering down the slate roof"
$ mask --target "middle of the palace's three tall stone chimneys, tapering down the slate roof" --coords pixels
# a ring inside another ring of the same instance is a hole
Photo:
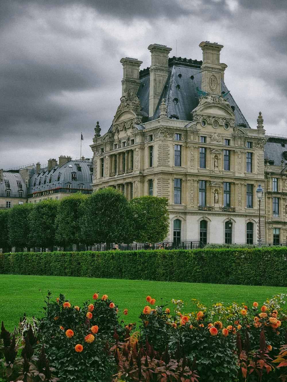
[[[170,69],[168,68],[168,53],[171,48],[166,45],[151,44],[148,50],[152,54],[150,65],[150,104],[148,116],[152,117],[160,99],[160,94],[165,84]]]

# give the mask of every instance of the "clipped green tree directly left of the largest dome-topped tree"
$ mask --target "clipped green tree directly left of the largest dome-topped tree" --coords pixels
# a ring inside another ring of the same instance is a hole
[[[60,201],[57,217],[55,219],[55,240],[60,246],[70,246],[83,243],[81,233],[81,209],[80,206],[88,195],[80,192],[64,197]]]

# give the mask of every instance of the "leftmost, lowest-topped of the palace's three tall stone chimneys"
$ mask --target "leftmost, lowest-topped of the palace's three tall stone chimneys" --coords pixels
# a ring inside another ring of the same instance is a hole
[[[122,96],[127,94],[130,89],[136,95],[140,86],[140,65],[142,65],[142,61],[137,60],[137,58],[126,57],[122,58],[120,63],[124,68]]]

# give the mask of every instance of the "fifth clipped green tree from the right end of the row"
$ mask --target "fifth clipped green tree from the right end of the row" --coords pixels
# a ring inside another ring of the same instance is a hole
[[[29,216],[33,211],[33,204],[24,203],[11,208],[8,215],[8,236],[11,246],[30,248],[29,243]]]

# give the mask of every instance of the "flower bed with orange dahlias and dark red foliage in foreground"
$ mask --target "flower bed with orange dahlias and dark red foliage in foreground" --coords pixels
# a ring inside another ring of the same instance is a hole
[[[0,381],[284,381],[285,297],[209,308],[172,300],[171,312],[147,296],[138,329],[107,295],[79,307],[49,292],[41,320],[24,317],[14,333],[2,322]]]

